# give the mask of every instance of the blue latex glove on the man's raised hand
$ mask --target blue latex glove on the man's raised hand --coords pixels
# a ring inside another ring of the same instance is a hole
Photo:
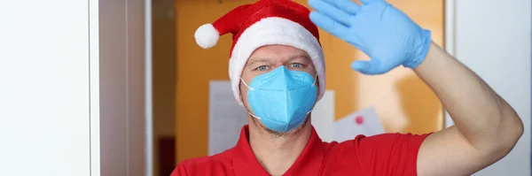
[[[430,31],[384,0],[360,1],[362,5],[351,0],[309,0],[317,10],[310,13],[310,20],[372,58],[351,64],[360,73],[381,74],[398,65],[421,64],[431,42]]]

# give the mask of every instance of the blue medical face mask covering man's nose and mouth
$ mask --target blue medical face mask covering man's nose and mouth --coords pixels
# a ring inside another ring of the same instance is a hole
[[[291,71],[279,66],[256,76],[247,90],[247,102],[256,119],[277,132],[288,132],[300,126],[316,103],[316,80],[309,73]]]

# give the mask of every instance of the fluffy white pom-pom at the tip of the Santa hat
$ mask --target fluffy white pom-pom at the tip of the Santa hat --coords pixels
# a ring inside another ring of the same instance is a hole
[[[198,27],[194,38],[196,38],[196,42],[201,48],[208,49],[216,45],[220,38],[220,33],[212,24],[205,24]]]

